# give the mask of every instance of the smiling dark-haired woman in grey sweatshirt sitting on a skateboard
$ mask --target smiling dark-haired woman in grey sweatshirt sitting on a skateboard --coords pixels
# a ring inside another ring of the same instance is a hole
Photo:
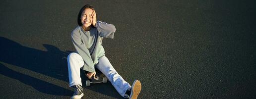
[[[72,99],[83,97],[80,68],[88,71],[86,76],[89,79],[95,76],[95,68],[98,68],[122,97],[137,99],[141,83],[135,80],[130,86],[113,68],[102,47],[103,38],[114,38],[115,26],[97,21],[96,12],[89,4],[80,9],[77,23],[78,26],[71,33],[76,52],[67,56],[69,87],[75,88]]]

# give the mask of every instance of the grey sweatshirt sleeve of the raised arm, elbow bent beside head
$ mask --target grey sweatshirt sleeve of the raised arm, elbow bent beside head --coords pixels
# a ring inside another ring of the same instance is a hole
[[[111,39],[114,38],[116,27],[113,24],[97,21],[96,28],[99,32],[100,37],[111,38]]]

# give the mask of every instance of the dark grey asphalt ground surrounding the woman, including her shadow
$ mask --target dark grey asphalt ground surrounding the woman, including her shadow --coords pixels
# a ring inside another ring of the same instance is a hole
[[[255,0],[0,0],[0,99],[72,96],[66,57],[85,4],[115,25],[103,47],[141,81],[138,99],[256,99]],[[83,88],[83,99],[122,99],[111,83]]]

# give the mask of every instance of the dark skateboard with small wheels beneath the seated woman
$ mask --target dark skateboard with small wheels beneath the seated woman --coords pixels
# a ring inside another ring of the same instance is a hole
[[[96,74],[95,77],[92,77],[91,80],[86,80],[86,86],[91,86],[91,84],[97,84],[97,83],[107,83],[108,79],[105,75],[101,74],[100,76],[98,76]]]

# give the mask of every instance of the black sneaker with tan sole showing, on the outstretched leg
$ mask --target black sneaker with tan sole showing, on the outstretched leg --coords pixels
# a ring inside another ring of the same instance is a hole
[[[129,99],[137,99],[139,93],[141,91],[141,83],[138,80],[135,80],[131,86],[131,88],[128,88],[125,94],[125,98]]]

